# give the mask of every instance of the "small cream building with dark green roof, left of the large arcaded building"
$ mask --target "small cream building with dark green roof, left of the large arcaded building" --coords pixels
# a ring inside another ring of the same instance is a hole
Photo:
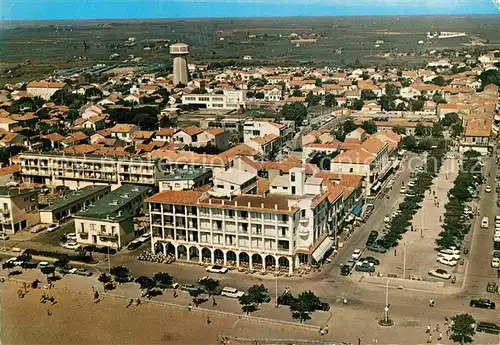
[[[149,187],[123,185],[74,214],[76,241],[120,249],[135,237],[134,216],[142,213]]]

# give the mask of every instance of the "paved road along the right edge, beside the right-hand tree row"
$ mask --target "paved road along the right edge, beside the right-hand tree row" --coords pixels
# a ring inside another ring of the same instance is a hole
[[[500,215],[497,207],[497,195],[495,193],[496,172],[495,157],[485,158],[486,183],[480,187],[479,216],[474,218],[474,230],[472,234],[471,251],[468,262],[466,283],[462,294],[468,296],[486,296],[486,285],[489,281],[496,282],[496,268],[491,267],[493,253],[493,232],[495,229],[494,218]],[[484,191],[485,187],[492,187],[491,193]],[[481,229],[481,220],[488,217],[489,229]]]

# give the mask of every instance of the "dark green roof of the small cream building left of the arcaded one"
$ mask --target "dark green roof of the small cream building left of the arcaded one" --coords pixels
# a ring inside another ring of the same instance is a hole
[[[135,199],[137,196],[147,193],[150,190],[147,186],[134,184],[124,184],[114,191],[106,194],[94,203],[94,206],[75,213],[76,217],[106,219],[113,217],[127,218],[131,214],[123,211],[123,207]]]

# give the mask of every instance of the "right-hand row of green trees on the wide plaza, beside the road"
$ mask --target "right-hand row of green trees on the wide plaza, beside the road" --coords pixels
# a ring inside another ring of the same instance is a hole
[[[448,193],[443,230],[436,239],[439,248],[460,246],[471,228],[470,219],[464,214],[464,210],[466,202],[472,198],[471,191],[475,189],[475,184],[483,179],[481,167],[478,165],[479,157],[477,151],[467,151],[463,155],[460,172]]]

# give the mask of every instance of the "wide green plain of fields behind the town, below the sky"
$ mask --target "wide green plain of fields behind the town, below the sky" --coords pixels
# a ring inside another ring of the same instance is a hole
[[[422,56],[426,51],[466,48],[473,40],[481,44],[478,48],[498,48],[499,25],[498,16],[4,22],[0,82],[40,77],[59,68],[120,63],[129,55],[140,57],[140,64],[169,66],[166,45],[175,41],[190,44],[190,61],[198,63],[343,67],[358,59],[381,67],[419,65],[433,59]],[[427,31],[463,31],[468,36],[417,44]],[[290,42],[293,33],[317,42],[297,47]],[[126,45],[130,37],[135,37],[134,45]],[[383,41],[379,47],[377,40]],[[397,52],[413,54],[400,57]],[[110,61],[113,53],[120,54],[119,60]],[[386,53],[391,55],[384,57]],[[253,59],[243,61],[245,55]]]

